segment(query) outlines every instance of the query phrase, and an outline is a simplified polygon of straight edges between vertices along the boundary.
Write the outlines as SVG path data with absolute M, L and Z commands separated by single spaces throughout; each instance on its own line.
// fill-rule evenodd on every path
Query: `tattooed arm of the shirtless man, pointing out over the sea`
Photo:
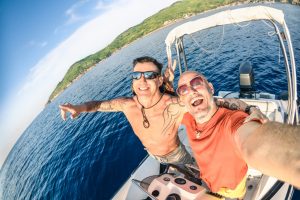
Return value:
M 67 103 L 59 105 L 59 108 L 62 119 L 66 120 L 67 112 L 71 113 L 71 119 L 76 118 L 82 112 L 120 112 L 130 100 L 131 98 L 117 98 L 107 101 L 89 101 L 80 105 Z

